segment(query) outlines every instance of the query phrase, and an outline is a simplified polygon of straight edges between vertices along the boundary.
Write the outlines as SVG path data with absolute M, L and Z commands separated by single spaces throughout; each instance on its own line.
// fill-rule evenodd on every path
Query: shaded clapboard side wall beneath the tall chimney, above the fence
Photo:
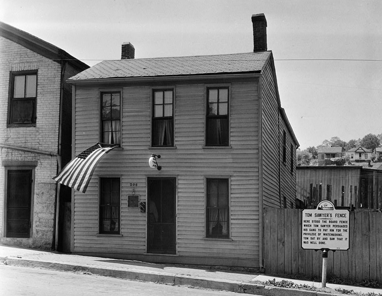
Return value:
M 263 205 L 280 207 L 279 106 L 270 64 L 262 78 Z

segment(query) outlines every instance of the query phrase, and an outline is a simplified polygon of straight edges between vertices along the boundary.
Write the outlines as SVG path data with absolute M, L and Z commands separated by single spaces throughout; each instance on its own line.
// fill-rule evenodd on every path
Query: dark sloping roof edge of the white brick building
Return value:
M 0 36 L 20 44 L 21 46 L 24 46 L 25 48 L 30 49 L 38 54 L 41 54 L 46 58 L 52 59 L 57 63 L 61 63 L 62 60 L 65 60 L 80 70 L 89 68 L 88 65 L 81 62 L 80 60 L 77 60 L 65 50 L 2 22 L 0 22 Z

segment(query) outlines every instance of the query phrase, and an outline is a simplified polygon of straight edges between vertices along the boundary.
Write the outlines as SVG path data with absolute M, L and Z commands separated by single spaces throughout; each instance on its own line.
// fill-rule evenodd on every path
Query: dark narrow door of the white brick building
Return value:
M 32 170 L 8 170 L 6 237 L 30 236 Z

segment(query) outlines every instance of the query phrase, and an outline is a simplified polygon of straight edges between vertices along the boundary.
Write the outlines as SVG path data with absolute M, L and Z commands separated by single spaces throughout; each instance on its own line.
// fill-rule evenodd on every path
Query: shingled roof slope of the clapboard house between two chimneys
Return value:
M 271 51 L 107 60 L 76 74 L 68 81 L 89 81 L 111 78 L 143 78 L 208 74 L 261 73 Z

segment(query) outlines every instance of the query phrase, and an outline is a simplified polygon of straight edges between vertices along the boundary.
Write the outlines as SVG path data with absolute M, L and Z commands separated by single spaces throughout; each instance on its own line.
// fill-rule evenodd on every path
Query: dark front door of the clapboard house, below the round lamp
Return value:
M 147 252 L 175 254 L 175 178 L 148 178 Z

